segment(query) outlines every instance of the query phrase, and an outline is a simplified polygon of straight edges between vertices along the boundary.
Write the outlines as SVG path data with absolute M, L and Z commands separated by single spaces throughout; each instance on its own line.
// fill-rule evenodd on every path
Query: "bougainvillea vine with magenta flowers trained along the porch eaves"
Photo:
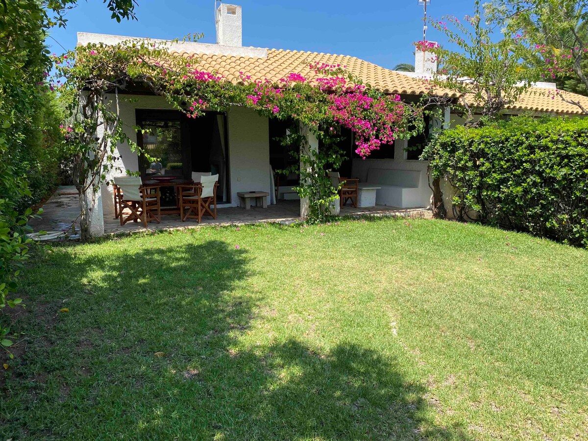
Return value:
M 254 81 L 241 74 L 240 83 L 234 84 L 215 72 L 199 70 L 198 59 L 173 56 L 165 44 L 153 44 L 149 40 L 131 40 L 112 46 L 89 44 L 56 57 L 55 65 L 56 77 L 65 78 L 65 83 L 55 82 L 53 86 L 69 102 L 71 117 L 64 126 L 64 136 L 66 148 L 75 158 L 75 182 L 82 204 L 82 237 L 89 235 L 93 193 L 112 167 L 116 144 L 125 142 L 138 151 L 135 142 L 122 131 L 122 121 L 115 111 L 120 99 L 116 92 L 136 83 L 146 85 L 191 118 L 205 110 L 226 111 L 232 105 L 246 106 L 259 115 L 289 119 L 298 128 L 306 126 L 327 146 L 334 144 L 332 141 L 340 128 L 348 128 L 355 133 L 356 152 L 363 158 L 380 145 L 410 136 L 423 126 L 420 109 L 400 102 L 399 96 L 390 97 L 362 85 L 341 65 L 310 64 L 316 78 L 290 72 L 278 82 Z M 105 130 L 96 141 L 98 127 Z M 325 189 L 320 182 L 323 177 L 326 179 L 329 167 L 340 162 L 342 153 L 336 150 L 323 153 L 329 161 L 321 160 L 322 177 L 318 177 L 319 167 L 312 163 L 315 156 L 312 154 L 305 158 L 308 167 L 300 171 L 300 195 L 311 199 L 316 196 L 316 201 L 322 201 L 319 203 L 322 208 L 311 211 L 311 216 L 322 217 L 325 207 L 337 197 L 337 189 L 330 185 Z M 307 173 L 308 169 L 313 172 Z M 318 193 L 305 190 L 308 186 L 318 186 Z

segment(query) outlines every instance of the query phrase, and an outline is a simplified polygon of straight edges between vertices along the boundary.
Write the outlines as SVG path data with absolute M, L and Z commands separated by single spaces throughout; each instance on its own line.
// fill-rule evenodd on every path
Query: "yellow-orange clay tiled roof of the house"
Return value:
M 219 54 L 194 54 L 191 52 L 173 51 L 172 54 L 188 58 L 197 56 L 199 69 L 225 76 L 231 82 L 239 82 L 239 72 L 250 75 L 252 79 L 269 79 L 279 81 L 290 72 L 296 72 L 312 79 L 318 75 L 309 68 L 315 62 L 326 64 L 340 64 L 346 66 L 350 74 L 358 76 L 364 83 L 380 89 L 385 93 L 400 93 L 406 95 L 420 95 L 425 93 L 425 83 L 422 79 L 412 78 L 400 72 L 391 71 L 376 64 L 364 61 L 354 56 L 317 54 L 316 52 L 285 51 L 282 49 L 268 49 L 267 57 L 236 56 Z M 448 91 L 445 91 L 448 92 Z M 563 101 L 553 93 L 553 89 L 530 88 L 523 93 L 519 101 L 510 106 L 517 111 L 539 111 L 550 113 L 582 113 L 578 106 Z M 570 92 L 562 92 L 568 98 L 579 101 L 588 108 L 588 97 Z M 447 93 L 457 96 L 455 92 Z

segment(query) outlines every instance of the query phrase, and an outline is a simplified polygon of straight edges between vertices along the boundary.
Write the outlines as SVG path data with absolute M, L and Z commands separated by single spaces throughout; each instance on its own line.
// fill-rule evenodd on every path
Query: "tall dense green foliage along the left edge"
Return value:
M 103 0 L 113 18 L 133 19 L 133 0 Z M 65 26 L 77 0 L 0 0 L 0 311 L 14 307 L 19 266 L 32 240 L 29 205 L 51 189 L 61 118 L 45 81 L 51 58 L 44 41 L 52 26 Z M 33 190 L 33 191 L 31 191 Z M 0 347 L 12 344 L 0 316 Z

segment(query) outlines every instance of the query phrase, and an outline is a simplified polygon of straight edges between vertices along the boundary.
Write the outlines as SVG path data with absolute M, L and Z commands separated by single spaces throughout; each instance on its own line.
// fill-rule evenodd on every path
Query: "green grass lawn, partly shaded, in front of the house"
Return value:
M 0 439 L 588 439 L 587 268 L 435 220 L 57 247 Z

